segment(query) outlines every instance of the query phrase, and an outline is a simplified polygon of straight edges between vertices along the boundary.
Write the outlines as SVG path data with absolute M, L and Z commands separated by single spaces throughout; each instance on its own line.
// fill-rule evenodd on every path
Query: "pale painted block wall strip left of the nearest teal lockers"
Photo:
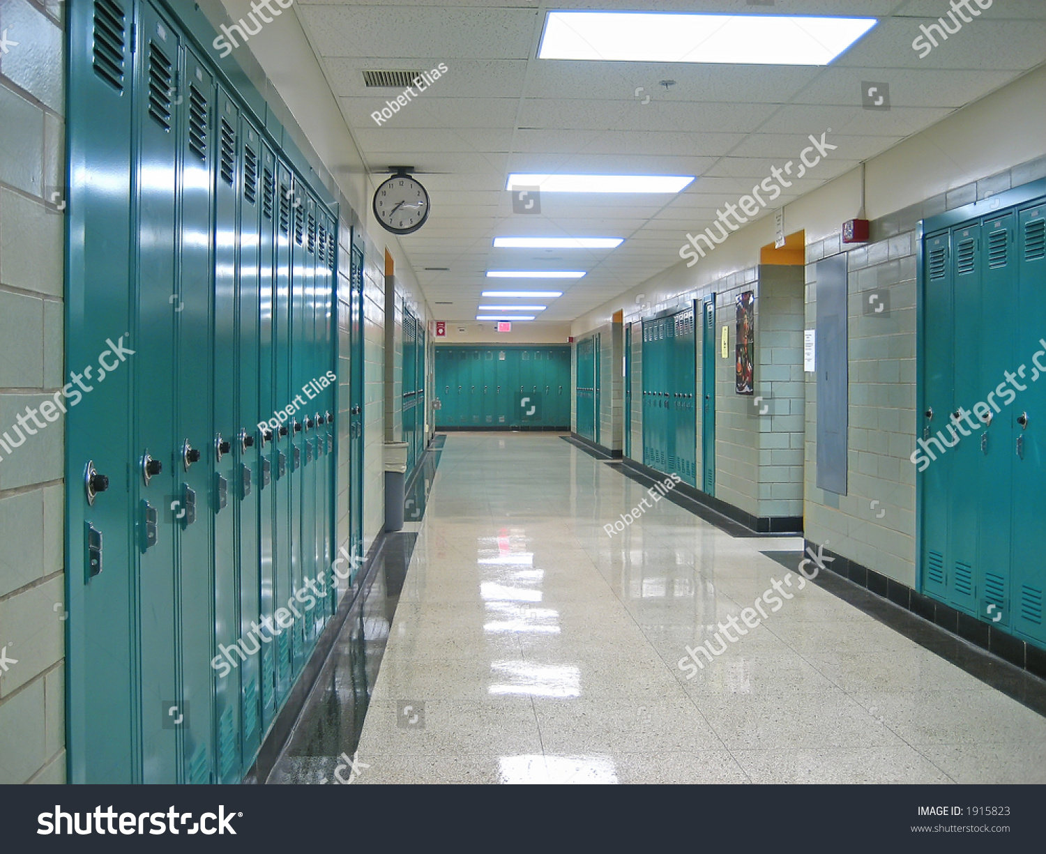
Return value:
M 65 383 L 58 2 L 0 0 L 0 433 Z M 31 423 L 31 422 L 30 422 Z M 64 421 L 0 448 L 0 783 L 65 782 Z

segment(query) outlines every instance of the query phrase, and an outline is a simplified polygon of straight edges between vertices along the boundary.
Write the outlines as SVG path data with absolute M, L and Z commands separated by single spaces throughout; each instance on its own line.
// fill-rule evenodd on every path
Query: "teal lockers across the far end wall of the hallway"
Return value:
M 436 347 L 437 430 L 570 429 L 570 346 Z

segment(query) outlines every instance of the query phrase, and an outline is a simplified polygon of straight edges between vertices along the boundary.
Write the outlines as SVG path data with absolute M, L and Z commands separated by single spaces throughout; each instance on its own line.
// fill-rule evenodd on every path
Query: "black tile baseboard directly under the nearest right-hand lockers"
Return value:
M 824 561 L 824 569 L 828 572 L 847 579 L 859 587 L 870 591 L 880 599 L 885 599 L 897 607 L 933 623 L 967 644 L 990 652 L 1033 676 L 1046 679 L 1046 650 L 1040 649 L 1015 634 L 1002 631 L 991 623 L 982 622 L 969 614 L 957 610 L 945 602 L 932 599 L 912 590 L 907 584 L 887 578 L 885 575 L 870 570 L 856 560 L 843 557 L 831 549 L 824 549 L 809 539 L 805 539 L 804 543 L 806 548 L 812 549 L 815 554 L 832 558 L 831 562 Z M 1023 699 L 1021 701 L 1024 702 Z M 1036 711 L 1046 714 L 1046 703 L 1042 708 L 1037 708 Z

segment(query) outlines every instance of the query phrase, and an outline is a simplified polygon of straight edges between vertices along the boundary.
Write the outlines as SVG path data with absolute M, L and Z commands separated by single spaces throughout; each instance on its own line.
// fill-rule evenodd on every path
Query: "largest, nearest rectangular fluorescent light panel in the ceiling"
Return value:
M 800 15 L 550 11 L 538 59 L 827 65 L 877 23 Z

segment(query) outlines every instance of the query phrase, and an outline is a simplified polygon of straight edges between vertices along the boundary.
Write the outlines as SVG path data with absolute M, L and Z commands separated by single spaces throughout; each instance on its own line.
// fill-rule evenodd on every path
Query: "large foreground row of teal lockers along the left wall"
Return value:
M 337 212 L 166 6 L 67 14 L 69 779 L 235 783 L 336 602 Z

